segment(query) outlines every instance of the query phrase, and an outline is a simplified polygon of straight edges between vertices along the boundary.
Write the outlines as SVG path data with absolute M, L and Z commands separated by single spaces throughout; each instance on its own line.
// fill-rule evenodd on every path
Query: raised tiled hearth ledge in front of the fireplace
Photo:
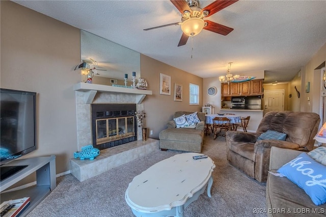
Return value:
M 159 148 L 158 140 L 138 140 L 123 145 L 100 150 L 94 160 L 70 160 L 70 172 L 79 181 L 85 181 L 127 162 L 143 157 Z

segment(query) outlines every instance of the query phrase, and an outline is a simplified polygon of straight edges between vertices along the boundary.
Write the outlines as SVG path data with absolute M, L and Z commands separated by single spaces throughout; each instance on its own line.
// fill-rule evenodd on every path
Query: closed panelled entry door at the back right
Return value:
M 270 111 L 284 111 L 284 90 L 264 91 L 264 114 Z

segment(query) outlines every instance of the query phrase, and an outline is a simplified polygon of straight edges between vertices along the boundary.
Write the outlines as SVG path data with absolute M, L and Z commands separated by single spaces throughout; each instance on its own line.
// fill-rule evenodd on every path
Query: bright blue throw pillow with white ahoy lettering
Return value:
M 326 203 L 326 166 L 302 153 L 277 172 L 304 189 L 317 206 Z

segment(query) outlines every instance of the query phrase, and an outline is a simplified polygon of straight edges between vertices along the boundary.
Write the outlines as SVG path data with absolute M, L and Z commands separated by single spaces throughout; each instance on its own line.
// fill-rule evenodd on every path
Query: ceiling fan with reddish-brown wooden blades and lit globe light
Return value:
M 182 36 L 179 41 L 178 47 L 185 45 L 189 36 L 198 35 L 203 29 L 208 30 L 214 33 L 221 35 L 228 35 L 233 31 L 232 28 L 210 21 L 204 20 L 203 18 L 209 17 L 216 12 L 221 11 L 222 9 L 236 3 L 238 0 L 217 0 L 205 8 L 199 8 L 198 0 L 170 0 L 172 4 L 180 11 L 181 13 L 181 22 L 174 22 L 165 25 L 159 25 L 152 28 L 145 29 L 145 31 L 153 30 L 170 25 L 181 25 Z

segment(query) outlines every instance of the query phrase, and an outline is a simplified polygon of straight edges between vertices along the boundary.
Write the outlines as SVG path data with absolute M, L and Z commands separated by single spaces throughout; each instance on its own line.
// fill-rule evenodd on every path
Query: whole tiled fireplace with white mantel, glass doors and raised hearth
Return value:
M 101 150 L 100 155 L 94 160 L 72 158 L 70 171 L 79 181 L 87 180 L 158 150 L 158 140 L 148 138 L 142 141 L 142 130 L 137 126 L 133 115 L 133 111 L 144 110 L 143 100 L 147 95 L 152 95 L 152 91 L 87 83 L 75 84 L 73 89 L 76 91 L 78 151 L 89 144 L 95 147 L 92 125 L 98 132 L 95 138 L 99 146 L 121 143 Z M 93 121 L 92 111 L 96 111 L 97 116 Z M 129 142 L 123 144 L 125 140 Z

